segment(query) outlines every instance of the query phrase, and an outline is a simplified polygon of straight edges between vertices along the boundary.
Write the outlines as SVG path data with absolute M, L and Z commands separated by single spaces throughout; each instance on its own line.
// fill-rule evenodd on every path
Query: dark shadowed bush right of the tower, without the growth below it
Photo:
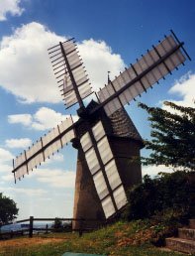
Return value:
M 128 219 L 144 219 L 171 209 L 179 211 L 183 220 L 195 214 L 195 172 L 159 173 L 154 179 L 144 177 L 144 183 L 128 193 Z M 182 212 L 181 212 L 182 211 Z

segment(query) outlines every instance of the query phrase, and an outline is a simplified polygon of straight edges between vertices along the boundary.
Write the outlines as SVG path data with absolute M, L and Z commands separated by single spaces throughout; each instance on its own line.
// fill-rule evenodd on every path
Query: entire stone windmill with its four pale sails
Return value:
M 87 107 L 83 99 L 93 92 L 74 39 L 50 48 L 65 105 L 68 108 L 78 103 L 79 119 L 73 122 L 69 116 L 17 157 L 12 171 L 15 183 L 71 141 L 78 150 L 74 217 L 109 219 L 121 212 L 127 204 L 128 187 L 142 181 L 140 165 L 132 164 L 131 172 L 128 169 L 130 158 L 139 156 L 143 147 L 124 106 L 184 64 L 184 54 L 190 60 L 183 45 L 171 31 L 136 64 L 114 80 L 109 78 L 96 93 L 98 102 L 92 101 Z

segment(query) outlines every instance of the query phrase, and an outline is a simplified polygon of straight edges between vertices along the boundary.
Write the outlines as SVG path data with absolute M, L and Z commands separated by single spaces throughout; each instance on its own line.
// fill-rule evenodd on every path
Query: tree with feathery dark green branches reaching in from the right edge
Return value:
M 172 113 L 159 107 L 148 107 L 140 103 L 149 114 L 152 128 L 151 140 L 145 141 L 146 149 L 152 150 L 144 165 L 165 165 L 195 170 L 195 108 L 164 102 Z

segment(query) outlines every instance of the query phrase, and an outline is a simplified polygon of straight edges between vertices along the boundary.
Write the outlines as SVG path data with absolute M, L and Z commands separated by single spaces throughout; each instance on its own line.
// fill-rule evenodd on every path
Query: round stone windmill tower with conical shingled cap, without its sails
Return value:
M 93 109 L 97 105 L 95 101 L 91 101 L 87 108 Z M 140 156 L 140 150 L 144 147 L 142 137 L 124 108 L 119 109 L 110 117 L 101 108 L 95 118 L 91 119 L 91 125 L 99 120 L 109 138 L 124 190 L 128 191 L 133 185 L 142 183 L 141 165 L 131 163 L 132 157 Z M 85 132 L 84 127 L 79 127 L 76 130 L 77 139 L 73 142 L 73 147 L 78 150 L 73 218 L 105 220 L 104 211 L 78 139 Z M 74 228 L 79 228 L 79 224 L 74 221 Z M 85 221 L 84 226 L 91 227 L 96 224 L 98 222 Z

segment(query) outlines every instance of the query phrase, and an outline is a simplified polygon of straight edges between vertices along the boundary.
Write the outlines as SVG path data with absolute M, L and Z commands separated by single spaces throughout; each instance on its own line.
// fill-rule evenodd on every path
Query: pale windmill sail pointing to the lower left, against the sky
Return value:
M 62 121 L 57 127 L 51 130 L 45 137 L 41 138 L 29 150 L 22 153 L 13 161 L 14 170 L 12 171 L 16 180 L 24 177 L 33 168 L 45 162 L 49 156 L 55 151 L 66 145 L 75 137 L 74 129 L 72 128 L 72 117 L 68 117 Z

